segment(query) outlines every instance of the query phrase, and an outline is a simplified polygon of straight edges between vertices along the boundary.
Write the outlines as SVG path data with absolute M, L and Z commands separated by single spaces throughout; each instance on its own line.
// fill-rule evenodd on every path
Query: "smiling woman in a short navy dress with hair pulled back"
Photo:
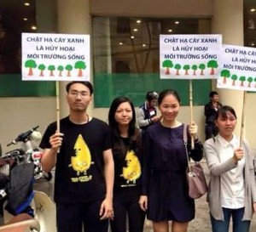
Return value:
M 160 123 L 148 127 L 143 134 L 143 193 L 140 206 L 153 221 L 154 232 L 186 232 L 195 218 L 195 201 L 189 197 L 186 178 L 188 161 L 183 141 L 184 124 L 177 121 L 180 99 L 175 90 L 166 89 L 158 99 L 162 116 Z M 195 139 L 195 149 L 188 146 L 190 157 L 201 161 L 202 145 L 197 126 L 191 122 L 189 141 Z

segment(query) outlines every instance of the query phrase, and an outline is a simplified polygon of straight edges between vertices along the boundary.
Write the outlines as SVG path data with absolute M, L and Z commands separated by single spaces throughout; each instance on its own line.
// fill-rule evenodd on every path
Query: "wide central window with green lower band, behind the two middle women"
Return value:
M 189 81 L 160 80 L 160 34 L 210 33 L 209 19 L 93 17 L 95 107 L 126 95 L 141 105 L 145 94 L 174 88 L 189 105 Z M 193 81 L 194 105 L 205 105 L 211 80 Z M 205 96 L 202 97 L 202 96 Z

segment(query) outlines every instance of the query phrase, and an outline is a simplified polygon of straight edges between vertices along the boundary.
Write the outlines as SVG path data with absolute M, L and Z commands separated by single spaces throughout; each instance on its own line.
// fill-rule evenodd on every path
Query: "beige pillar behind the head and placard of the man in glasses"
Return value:
M 90 34 L 90 0 L 57 0 L 57 8 L 59 33 Z M 90 70 L 92 71 L 92 69 Z M 66 101 L 66 84 L 67 82 L 60 82 L 61 117 L 67 116 L 69 114 Z M 88 113 L 90 115 L 91 111 L 92 105 L 90 105 L 88 108 Z

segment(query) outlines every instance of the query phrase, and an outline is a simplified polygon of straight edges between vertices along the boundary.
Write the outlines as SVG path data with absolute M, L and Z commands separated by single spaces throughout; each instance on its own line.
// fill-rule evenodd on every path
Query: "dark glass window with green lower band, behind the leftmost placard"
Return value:
M 47 4 L 55 10 L 54 3 L 51 0 L 0 1 L 0 97 L 55 95 L 55 82 L 22 82 L 20 73 L 21 33 L 53 31 L 45 22 L 55 17 L 50 10 L 46 12 Z

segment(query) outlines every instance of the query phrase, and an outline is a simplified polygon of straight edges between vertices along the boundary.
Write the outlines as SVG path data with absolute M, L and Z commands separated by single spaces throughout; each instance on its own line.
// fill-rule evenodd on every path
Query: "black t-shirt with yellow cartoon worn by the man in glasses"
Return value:
M 55 202 L 72 203 L 97 201 L 105 198 L 102 152 L 111 148 L 108 124 L 92 118 L 83 125 L 68 117 L 61 119 L 64 133 L 55 166 Z M 49 137 L 56 131 L 56 122 L 49 125 L 40 147 L 50 148 Z

